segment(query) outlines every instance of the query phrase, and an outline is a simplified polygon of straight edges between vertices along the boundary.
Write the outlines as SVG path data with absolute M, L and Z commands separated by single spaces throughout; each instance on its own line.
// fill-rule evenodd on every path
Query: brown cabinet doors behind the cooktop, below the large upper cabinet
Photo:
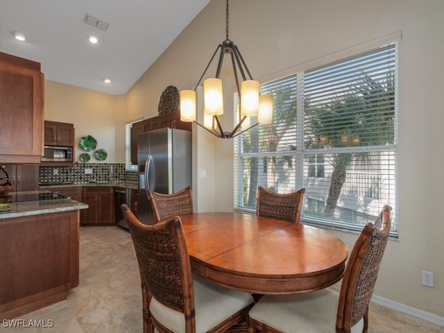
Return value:
M 35 191 L 39 189 L 39 164 L 0 164 L 9 176 L 12 192 Z M 0 175 L 3 177 L 3 173 Z M 4 180 L 0 180 L 3 184 Z

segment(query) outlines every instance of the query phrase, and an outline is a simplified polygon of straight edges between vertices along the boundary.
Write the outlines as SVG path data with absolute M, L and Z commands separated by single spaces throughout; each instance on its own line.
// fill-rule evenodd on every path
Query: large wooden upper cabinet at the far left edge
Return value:
M 0 52 L 1 162 L 40 162 L 43 89 L 40 63 Z

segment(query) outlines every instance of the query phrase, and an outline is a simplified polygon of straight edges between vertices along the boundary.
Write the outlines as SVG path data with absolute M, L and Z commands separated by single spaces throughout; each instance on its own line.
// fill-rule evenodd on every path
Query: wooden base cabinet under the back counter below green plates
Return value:
M 114 223 L 114 188 L 83 187 L 82 202 L 89 208 L 82 211 L 82 224 Z

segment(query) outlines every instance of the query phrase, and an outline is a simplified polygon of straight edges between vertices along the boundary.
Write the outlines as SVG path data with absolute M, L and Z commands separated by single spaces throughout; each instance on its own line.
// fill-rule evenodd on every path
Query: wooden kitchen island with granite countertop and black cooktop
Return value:
M 0 319 L 67 298 L 79 282 L 84 203 L 50 191 L 0 196 Z

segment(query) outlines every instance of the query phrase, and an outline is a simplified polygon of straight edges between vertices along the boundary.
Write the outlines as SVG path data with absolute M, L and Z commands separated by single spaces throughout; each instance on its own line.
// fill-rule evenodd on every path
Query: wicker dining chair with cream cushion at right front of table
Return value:
M 390 232 L 391 207 L 364 226 L 348 258 L 341 291 L 264 296 L 248 314 L 253 332 L 367 332 L 368 306 Z M 336 320 L 336 330 L 335 323 Z

